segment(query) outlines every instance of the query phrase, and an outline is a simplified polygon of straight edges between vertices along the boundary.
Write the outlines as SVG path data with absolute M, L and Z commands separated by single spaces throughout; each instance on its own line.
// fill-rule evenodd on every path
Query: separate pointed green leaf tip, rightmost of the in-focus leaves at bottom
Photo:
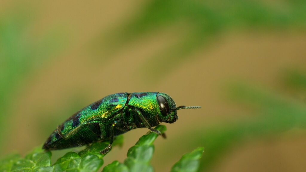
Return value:
M 171 172 L 196 172 L 199 170 L 200 159 L 202 157 L 204 148 L 197 148 L 191 153 L 187 153 L 174 164 Z

